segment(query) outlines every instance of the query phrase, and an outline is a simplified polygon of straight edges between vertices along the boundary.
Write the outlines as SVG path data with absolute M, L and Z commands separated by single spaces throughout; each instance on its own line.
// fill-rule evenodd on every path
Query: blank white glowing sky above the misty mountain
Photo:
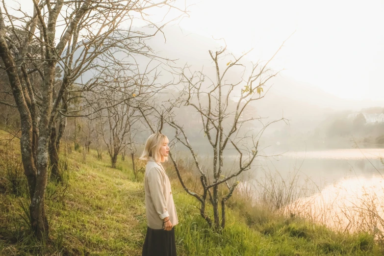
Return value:
M 348 99 L 384 99 L 383 0 L 199 0 L 180 26 L 224 37 L 233 51 L 255 48 L 285 76 Z

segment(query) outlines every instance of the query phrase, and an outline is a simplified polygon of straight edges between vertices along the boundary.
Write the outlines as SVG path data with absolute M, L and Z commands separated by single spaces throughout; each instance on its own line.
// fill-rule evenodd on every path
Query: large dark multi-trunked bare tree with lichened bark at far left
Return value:
M 15 102 L 12 105 L 20 114 L 20 145 L 31 199 L 31 227 L 36 236 L 42 238 L 49 230 L 44 206 L 49 154 L 54 152 L 53 143 L 56 151 L 59 149 L 65 117 L 79 114 L 78 109 L 69 112 L 66 106 L 77 97 L 84 97 L 82 92 L 92 91 L 97 84 L 97 77 L 83 82 L 82 75 L 107 69 L 107 66 L 101 67 L 100 59 L 104 60 L 102 64 L 107 63 L 106 59 L 109 63 L 121 63 L 114 57 L 117 51 L 151 57 L 144 39 L 161 31 L 164 23 L 161 26 L 151 23 L 146 11 L 175 8 L 175 0 L 111 0 L 105 3 L 99 0 L 32 0 L 32 16 L 21 8 L 11 14 L 6 1 L 2 3 L 0 55 L 4 66 L 1 68 L 6 71 L 12 88 Z M 137 17 L 154 29 L 150 29 L 150 33 L 130 29 Z M 17 30 L 22 30 L 23 36 L 19 36 Z M 64 75 L 61 84 L 55 87 L 57 65 Z M 53 128 L 58 116 L 62 131 L 59 128 L 55 139 Z

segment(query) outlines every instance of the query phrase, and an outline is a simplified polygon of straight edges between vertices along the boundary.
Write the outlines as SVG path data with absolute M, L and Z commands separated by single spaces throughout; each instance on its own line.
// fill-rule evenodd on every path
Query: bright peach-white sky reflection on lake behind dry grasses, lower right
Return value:
M 340 231 L 373 232 L 383 238 L 384 179 L 347 177 L 283 209 Z

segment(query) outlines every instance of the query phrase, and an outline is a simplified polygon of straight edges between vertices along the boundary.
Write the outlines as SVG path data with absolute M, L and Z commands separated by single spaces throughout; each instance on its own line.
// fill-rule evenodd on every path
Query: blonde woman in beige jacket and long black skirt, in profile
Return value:
M 171 183 L 162 162 L 168 160 L 167 136 L 152 134 L 140 159 L 147 160 L 144 177 L 147 234 L 142 256 L 176 256 L 175 230 L 179 223 Z

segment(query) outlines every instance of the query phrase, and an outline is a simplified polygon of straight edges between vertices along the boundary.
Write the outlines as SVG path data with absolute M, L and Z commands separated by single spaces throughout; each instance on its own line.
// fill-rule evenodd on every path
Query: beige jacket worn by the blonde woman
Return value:
M 163 219 L 169 217 L 173 226 L 179 223 L 173 202 L 171 183 L 163 167 L 153 158 L 147 162 L 144 176 L 147 225 L 151 229 L 163 229 Z

